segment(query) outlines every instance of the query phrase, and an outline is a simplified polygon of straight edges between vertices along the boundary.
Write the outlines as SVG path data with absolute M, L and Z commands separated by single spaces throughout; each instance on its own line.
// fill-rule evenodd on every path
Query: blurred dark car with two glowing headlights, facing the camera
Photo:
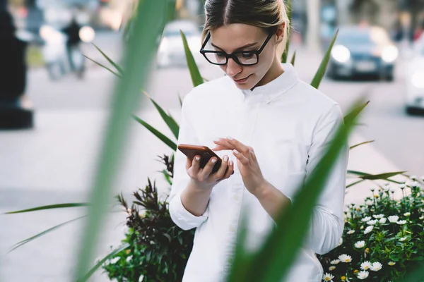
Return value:
M 397 47 L 382 27 L 341 27 L 331 50 L 327 73 L 331 78 L 366 75 L 393 80 L 398 56 Z

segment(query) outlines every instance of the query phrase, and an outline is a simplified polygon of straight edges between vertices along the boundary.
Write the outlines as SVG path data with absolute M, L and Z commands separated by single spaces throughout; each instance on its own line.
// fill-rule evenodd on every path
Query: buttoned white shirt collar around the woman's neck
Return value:
M 298 74 L 291 63 L 281 63 L 284 73 L 279 75 L 276 79 L 254 87 L 253 90 L 242 90 L 243 99 L 248 99 L 251 102 L 266 102 L 269 104 L 273 99 L 276 99 L 281 94 L 290 90 L 296 83 L 298 83 Z

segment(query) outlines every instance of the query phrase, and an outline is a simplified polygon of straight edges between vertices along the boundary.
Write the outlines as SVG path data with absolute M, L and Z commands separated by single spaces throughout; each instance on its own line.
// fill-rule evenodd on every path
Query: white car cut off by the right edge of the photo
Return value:
M 416 43 L 406 65 L 406 112 L 424 111 L 424 36 Z

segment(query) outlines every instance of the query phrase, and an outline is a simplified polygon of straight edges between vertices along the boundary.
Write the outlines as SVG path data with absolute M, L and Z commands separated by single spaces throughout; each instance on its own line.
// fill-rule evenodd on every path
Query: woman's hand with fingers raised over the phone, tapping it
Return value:
M 266 186 L 266 180 L 262 176 L 257 157 L 252 147 L 242 144 L 242 142 L 228 138 L 219 138 L 213 141 L 216 147 L 214 151 L 232 150 L 232 154 L 237 158 L 237 166 L 247 190 L 253 195 L 257 195 Z

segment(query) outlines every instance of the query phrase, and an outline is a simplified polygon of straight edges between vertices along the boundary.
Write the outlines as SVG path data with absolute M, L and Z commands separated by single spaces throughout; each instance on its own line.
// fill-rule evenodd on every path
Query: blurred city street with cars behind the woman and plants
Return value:
M 110 67 L 93 44 L 119 63 L 136 2 L 0 0 L 0 213 L 87 199 L 116 81 L 98 65 Z M 355 149 L 349 168 L 424 175 L 424 0 L 292 2 L 289 59 L 296 51 L 300 78 L 312 80 L 339 30 L 320 90 L 343 111 L 361 95 L 371 101 L 351 142 L 375 142 Z M 179 121 L 178 95 L 192 89 L 179 30 L 204 78 L 223 73 L 199 54 L 203 2 L 178 0 L 176 8 L 177 20 L 159 38 L 145 89 Z M 136 114 L 171 136 L 148 99 Z M 163 154 L 170 149 L 134 122 L 115 194 L 123 192 L 131 200 L 131 192 L 146 185 L 148 177 L 166 193 L 157 161 Z M 351 192 L 348 201 L 360 194 Z M 99 255 L 122 239 L 125 214 L 114 210 Z M 0 281 L 70 281 L 78 222 L 7 250 L 82 214 L 81 209 L 62 209 L 0 215 Z M 107 279 L 99 273 L 93 281 Z

